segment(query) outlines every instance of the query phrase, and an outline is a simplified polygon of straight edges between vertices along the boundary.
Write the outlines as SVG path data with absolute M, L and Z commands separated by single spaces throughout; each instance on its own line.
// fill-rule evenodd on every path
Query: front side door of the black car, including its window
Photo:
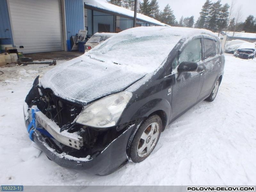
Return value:
M 172 119 L 194 105 L 203 84 L 204 64 L 202 62 L 201 38 L 189 42 L 179 56 L 172 62 L 173 72 L 182 61 L 195 61 L 198 70 L 193 72 L 176 72 L 176 81 L 172 87 Z

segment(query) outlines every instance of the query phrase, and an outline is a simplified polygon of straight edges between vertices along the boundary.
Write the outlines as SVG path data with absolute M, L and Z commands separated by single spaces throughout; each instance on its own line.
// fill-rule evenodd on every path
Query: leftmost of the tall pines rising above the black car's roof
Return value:
M 206 28 L 207 27 L 211 7 L 212 7 L 211 0 L 206 0 L 202 7 L 201 12 L 200 12 L 200 19 L 198 21 L 197 28 Z

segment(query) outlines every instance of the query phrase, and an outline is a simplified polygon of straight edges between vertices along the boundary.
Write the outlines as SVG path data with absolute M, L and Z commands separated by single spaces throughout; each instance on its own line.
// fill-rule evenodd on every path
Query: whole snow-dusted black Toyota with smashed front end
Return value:
M 173 120 L 213 101 L 224 63 L 211 31 L 127 29 L 35 79 L 29 137 L 61 166 L 108 175 L 146 159 Z

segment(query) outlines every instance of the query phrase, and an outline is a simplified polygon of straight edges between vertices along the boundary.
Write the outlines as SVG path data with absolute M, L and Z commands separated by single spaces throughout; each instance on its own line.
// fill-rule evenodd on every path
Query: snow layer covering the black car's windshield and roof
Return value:
M 183 39 L 196 35 L 215 36 L 211 31 L 183 27 L 137 27 L 124 30 L 85 53 L 104 62 L 125 65 L 135 73 L 151 73 Z

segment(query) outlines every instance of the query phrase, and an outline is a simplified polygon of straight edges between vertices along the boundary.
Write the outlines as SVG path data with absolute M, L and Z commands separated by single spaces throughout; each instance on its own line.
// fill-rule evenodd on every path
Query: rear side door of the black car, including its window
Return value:
M 204 37 L 204 81 L 202 90 L 200 93 L 200 99 L 208 96 L 211 91 L 213 84 L 215 83 L 218 73 L 220 71 L 221 58 L 220 49 L 218 49 L 218 43 L 214 38 Z

